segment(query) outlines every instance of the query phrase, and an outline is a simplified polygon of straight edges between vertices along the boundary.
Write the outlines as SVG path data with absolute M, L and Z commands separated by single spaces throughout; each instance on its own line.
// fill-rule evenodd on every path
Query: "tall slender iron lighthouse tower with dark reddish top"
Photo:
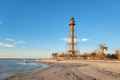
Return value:
M 69 22 L 69 36 L 68 36 L 68 54 L 72 57 L 76 56 L 76 44 L 77 39 L 75 35 L 75 20 L 74 17 L 71 17 Z

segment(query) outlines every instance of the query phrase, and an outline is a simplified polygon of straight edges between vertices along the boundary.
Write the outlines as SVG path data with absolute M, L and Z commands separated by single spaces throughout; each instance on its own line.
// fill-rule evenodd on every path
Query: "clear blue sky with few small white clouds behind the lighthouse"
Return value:
M 0 0 L 0 57 L 48 57 L 67 49 L 69 20 L 77 48 L 120 48 L 120 0 Z

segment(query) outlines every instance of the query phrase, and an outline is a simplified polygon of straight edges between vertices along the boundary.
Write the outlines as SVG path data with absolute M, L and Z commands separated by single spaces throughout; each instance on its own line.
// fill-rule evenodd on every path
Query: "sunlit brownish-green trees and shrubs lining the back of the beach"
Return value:
M 86 60 L 120 60 L 120 50 L 116 50 L 114 53 L 107 53 L 108 47 L 106 44 L 100 44 L 99 48 L 93 52 L 86 52 L 84 54 L 71 55 L 69 53 L 53 53 L 54 59 L 86 59 Z

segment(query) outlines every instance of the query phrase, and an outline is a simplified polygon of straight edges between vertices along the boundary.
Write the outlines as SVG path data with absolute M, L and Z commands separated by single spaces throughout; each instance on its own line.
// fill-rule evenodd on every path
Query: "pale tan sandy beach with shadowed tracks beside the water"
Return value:
M 43 60 L 48 68 L 8 80 L 120 80 L 119 61 Z

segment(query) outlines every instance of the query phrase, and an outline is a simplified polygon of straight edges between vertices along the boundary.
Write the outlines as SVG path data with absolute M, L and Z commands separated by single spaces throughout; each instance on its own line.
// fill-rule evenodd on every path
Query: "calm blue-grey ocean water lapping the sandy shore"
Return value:
M 38 64 L 30 59 L 0 59 L 0 80 L 5 80 L 15 73 L 31 72 L 37 68 L 42 69 L 45 67 L 47 65 Z

